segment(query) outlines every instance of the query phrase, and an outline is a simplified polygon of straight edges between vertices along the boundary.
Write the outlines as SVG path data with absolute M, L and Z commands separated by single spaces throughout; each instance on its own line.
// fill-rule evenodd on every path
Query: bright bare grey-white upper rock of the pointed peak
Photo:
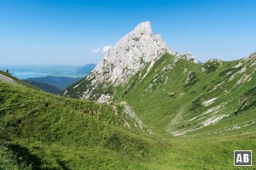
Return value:
M 160 35 L 153 34 L 150 22 L 143 22 L 110 48 L 92 72 L 97 75 L 96 81 L 116 86 L 165 53 L 173 54 Z

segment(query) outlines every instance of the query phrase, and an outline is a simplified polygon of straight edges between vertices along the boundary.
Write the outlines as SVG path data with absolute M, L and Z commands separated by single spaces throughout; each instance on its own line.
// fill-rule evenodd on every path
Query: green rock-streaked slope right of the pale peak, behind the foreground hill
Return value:
M 219 128 L 224 131 L 236 125 L 240 127 L 236 131 L 240 132 L 243 126 L 256 122 L 255 99 L 251 93 L 256 84 L 255 67 L 244 60 L 212 59 L 195 64 L 165 54 L 142 80 L 146 69 L 117 88 L 115 102 L 126 100 L 157 133 L 205 133 L 206 130 L 214 133 L 220 132 Z M 246 100 L 250 112 L 246 118 L 240 118 L 245 114 L 241 99 Z M 217 122 L 218 118 L 222 119 Z

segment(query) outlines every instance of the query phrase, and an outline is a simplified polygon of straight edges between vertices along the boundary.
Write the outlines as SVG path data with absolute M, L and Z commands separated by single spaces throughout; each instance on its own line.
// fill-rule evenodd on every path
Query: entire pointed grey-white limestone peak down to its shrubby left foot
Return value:
M 166 45 L 159 34 L 154 35 L 150 22 L 142 22 L 122 37 L 104 55 L 96 68 L 82 82 L 69 88 L 63 95 L 92 99 L 98 103 L 111 103 L 114 88 L 128 82 L 131 76 L 148 66 L 148 74 L 155 61 L 163 54 L 197 62 L 192 54 L 178 54 Z

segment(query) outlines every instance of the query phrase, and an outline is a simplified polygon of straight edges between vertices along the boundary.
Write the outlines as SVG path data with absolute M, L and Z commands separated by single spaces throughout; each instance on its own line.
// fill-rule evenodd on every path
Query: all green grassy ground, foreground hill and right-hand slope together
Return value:
M 233 150 L 256 152 L 254 59 L 198 65 L 165 54 L 116 88 L 113 105 L 0 82 L 3 155 L 32 169 L 235 169 Z M 125 119 L 122 101 L 154 137 Z

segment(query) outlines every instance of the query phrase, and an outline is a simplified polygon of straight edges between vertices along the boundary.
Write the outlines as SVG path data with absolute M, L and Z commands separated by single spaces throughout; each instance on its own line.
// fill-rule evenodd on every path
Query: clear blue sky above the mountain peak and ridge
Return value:
M 97 63 L 145 20 L 201 61 L 256 51 L 254 0 L 1 0 L 0 65 Z

